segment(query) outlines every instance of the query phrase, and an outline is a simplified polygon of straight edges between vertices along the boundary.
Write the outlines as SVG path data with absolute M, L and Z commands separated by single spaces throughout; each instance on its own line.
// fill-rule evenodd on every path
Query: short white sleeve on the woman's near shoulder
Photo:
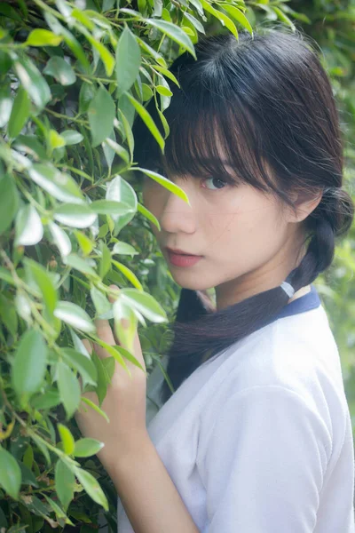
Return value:
M 317 412 L 286 387 L 253 386 L 215 418 L 204 421 L 197 459 L 204 533 L 312 533 L 332 446 Z

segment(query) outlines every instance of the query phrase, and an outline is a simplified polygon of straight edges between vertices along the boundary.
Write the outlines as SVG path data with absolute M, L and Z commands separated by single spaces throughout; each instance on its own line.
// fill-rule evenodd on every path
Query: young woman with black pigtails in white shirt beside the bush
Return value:
M 182 287 L 175 392 L 164 383 L 146 424 L 146 376 L 128 362 L 132 378 L 117 367 L 103 404 L 110 424 L 77 420 L 105 442 L 119 533 L 353 533 L 351 418 L 312 284 L 353 219 L 331 85 L 299 31 L 205 37 L 196 52 L 170 68 L 180 86 L 170 83 L 164 155 L 135 123 L 135 161 L 190 200 L 144 179 Z M 120 341 L 107 322 L 98 329 Z M 138 335 L 135 355 L 144 365 Z

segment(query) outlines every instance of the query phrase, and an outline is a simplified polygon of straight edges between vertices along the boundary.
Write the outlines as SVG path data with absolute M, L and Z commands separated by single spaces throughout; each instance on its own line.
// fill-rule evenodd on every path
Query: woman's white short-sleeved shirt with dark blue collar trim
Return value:
M 202 363 L 156 414 L 147 403 L 148 434 L 202 533 L 355 532 L 350 412 L 311 288 Z M 158 371 L 148 396 L 159 403 Z M 131 533 L 118 504 L 118 531 Z

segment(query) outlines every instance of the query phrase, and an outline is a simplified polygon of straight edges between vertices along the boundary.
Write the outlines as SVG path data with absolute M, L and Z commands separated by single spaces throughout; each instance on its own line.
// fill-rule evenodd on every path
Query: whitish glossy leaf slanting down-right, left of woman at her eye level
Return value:
M 60 202 L 84 202 L 82 191 L 75 179 L 66 172 L 60 172 L 50 163 L 34 163 L 28 169 L 28 176 Z

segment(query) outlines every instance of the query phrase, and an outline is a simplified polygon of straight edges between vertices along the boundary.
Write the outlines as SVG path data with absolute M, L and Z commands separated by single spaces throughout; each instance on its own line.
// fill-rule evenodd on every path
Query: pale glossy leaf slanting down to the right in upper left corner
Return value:
M 23 87 L 39 109 L 51 99 L 51 90 L 35 64 L 23 56 L 14 61 L 14 68 Z

